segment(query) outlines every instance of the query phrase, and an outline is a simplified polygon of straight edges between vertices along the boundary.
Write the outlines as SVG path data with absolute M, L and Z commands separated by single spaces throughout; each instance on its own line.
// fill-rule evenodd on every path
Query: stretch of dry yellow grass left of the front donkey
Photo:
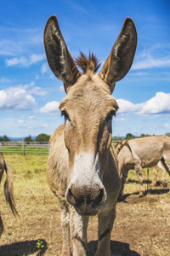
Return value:
M 58 239 L 53 235 L 55 232 L 60 234 L 61 230 L 57 201 L 46 182 L 48 156 L 5 155 L 4 157 L 13 169 L 14 199 L 20 216 L 15 218 L 7 207 L 3 186 L 1 186 L 1 212 L 5 227 L 1 245 L 8 244 L 12 249 L 11 247 L 0 247 L 0 255 L 3 255 L 4 250 L 7 250 L 4 253 L 5 256 L 36 253 L 39 250 L 36 247 L 39 237 L 43 240 L 43 248 L 46 249 L 48 246 L 47 255 L 53 255 L 50 253 L 52 244 L 55 241 L 61 244 L 60 236 Z M 16 250 L 15 254 L 13 247 Z M 61 245 L 59 251 L 60 249 Z M 60 255 L 60 253 L 55 255 Z

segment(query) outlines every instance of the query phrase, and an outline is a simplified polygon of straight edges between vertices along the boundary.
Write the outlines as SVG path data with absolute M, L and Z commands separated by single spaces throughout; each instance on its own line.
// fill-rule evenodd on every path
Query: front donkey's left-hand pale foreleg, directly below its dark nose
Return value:
M 71 238 L 73 256 L 86 256 L 88 216 L 81 216 L 71 207 Z

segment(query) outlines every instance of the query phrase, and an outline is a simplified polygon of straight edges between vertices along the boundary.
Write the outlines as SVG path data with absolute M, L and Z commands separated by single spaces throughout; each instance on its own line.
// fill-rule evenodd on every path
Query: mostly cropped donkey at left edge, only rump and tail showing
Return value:
M 6 181 L 4 183 L 4 194 L 5 199 L 8 202 L 9 207 L 11 208 L 14 215 L 18 214 L 15 204 L 14 204 L 14 197 L 13 197 L 13 174 L 10 166 L 8 166 L 7 162 L 3 158 L 3 153 L 0 151 L 0 183 L 3 177 L 3 172 L 6 172 Z M 3 234 L 3 220 L 0 215 L 0 237 Z

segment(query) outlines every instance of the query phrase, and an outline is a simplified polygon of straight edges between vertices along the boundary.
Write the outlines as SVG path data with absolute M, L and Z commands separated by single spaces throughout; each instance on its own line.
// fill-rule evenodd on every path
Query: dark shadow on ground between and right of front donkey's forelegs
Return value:
M 88 256 L 94 256 L 98 241 L 88 242 Z M 129 244 L 121 241 L 111 241 L 111 255 L 115 256 L 140 256 L 139 253 L 131 251 Z

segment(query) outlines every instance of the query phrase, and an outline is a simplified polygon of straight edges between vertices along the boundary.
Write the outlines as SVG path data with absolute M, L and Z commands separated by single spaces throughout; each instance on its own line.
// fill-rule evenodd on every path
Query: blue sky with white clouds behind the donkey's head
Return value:
M 58 106 L 65 91 L 48 67 L 42 40 L 50 15 L 57 15 L 73 57 L 90 49 L 103 63 L 131 17 L 138 46 L 112 94 L 120 107 L 113 136 L 170 132 L 169 0 L 1 0 L 0 136 L 51 134 L 64 121 Z

